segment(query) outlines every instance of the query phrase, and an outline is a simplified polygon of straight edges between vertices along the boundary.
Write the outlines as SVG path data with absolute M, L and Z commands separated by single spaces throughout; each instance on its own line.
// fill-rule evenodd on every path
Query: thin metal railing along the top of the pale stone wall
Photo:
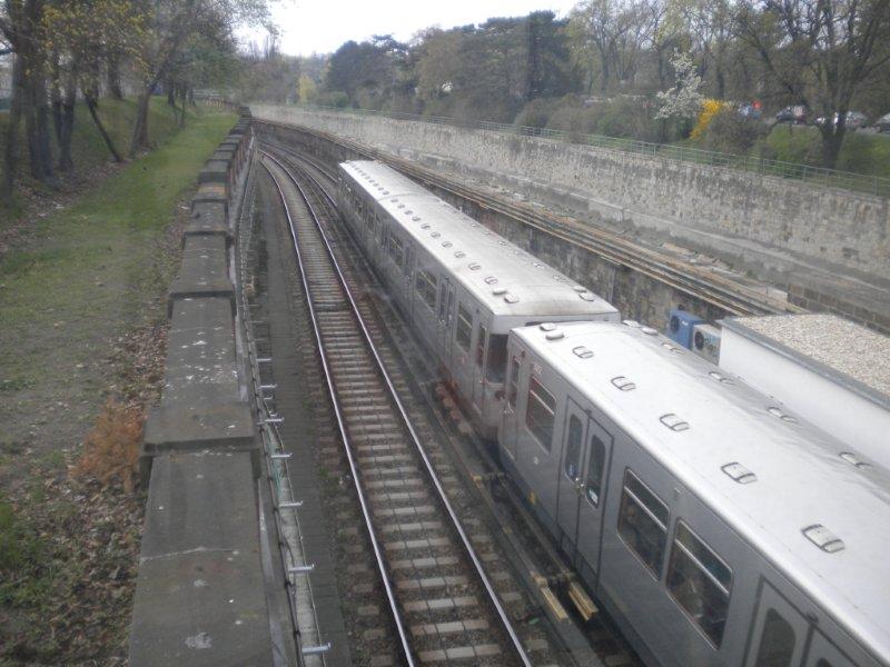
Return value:
M 651 143 L 649 141 L 636 141 L 634 139 L 604 137 L 602 135 L 584 135 L 580 132 L 567 132 L 564 130 L 551 130 L 546 128 L 492 122 L 487 120 L 457 120 L 444 116 L 419 116 L 416 113 L 384 112 L 372 109 L 324 107 L 313 104 L 299 104 L 297 108 L 305 109 L 307 111 L 373 116 L 393 120 L 412 120 L 429 125 L 487 130 L 503 135 L 537 137 L 540 139 L 592 146 L 595 148 L 629 152 L 649 158 L 705 165 L 709 167 L 722 167 L 780 179 L 793 179 L 801 181 L 804 185 L 820 188 L 840 188 L 857 193 L 873 195 L 876 197 L 890 197 L 890 178 L 867 176 L 864 173 L 854 173 L 852 171 L 839 171 L 837 169 L 825 169 L 824 167 L 811 167 L 809 165 L 784 162 L 782 160 L 770 160 L 767 158 L 716 152 L 712 150 L 702 150 L 699 148 L 674 146 L 671 143 Z

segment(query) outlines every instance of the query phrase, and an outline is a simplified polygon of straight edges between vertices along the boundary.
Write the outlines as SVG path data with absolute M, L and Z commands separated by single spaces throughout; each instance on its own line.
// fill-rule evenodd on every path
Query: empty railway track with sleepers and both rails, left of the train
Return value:
M 274 156 L 260 155 L 290 228 L 400 658 L 407 665 L 531 665 L 372 340 L 313 192 Z

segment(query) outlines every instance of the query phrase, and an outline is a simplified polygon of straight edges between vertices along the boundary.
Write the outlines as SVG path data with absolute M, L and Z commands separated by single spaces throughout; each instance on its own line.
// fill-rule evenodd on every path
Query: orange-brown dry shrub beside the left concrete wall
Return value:
M 76 474 L 105 486 L 119 484 L 131 491 L 142 439 L 142 410 L 108 399 L 96 426 L 83 440 Z

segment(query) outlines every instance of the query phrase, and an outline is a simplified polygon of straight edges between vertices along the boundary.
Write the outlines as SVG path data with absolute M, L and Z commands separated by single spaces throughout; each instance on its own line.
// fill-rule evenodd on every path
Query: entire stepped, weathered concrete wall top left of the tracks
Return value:
M 243 111 L 201 170 L 170 287 L 165 387 L 146 421 L 148 488 L 130 665 L 269 665 L 254 414 L 236 348 L 229 201 L 247 162 Z

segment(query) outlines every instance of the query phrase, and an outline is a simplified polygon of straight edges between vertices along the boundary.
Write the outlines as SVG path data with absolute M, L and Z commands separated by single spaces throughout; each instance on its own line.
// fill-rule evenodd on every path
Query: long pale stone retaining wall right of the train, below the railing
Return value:
M 257 118 L 352 137 L 768 271 L 790 271 L 803 260 L 890 281 L 883 197 L 487 130 L 296 107 L 251 109 Z

